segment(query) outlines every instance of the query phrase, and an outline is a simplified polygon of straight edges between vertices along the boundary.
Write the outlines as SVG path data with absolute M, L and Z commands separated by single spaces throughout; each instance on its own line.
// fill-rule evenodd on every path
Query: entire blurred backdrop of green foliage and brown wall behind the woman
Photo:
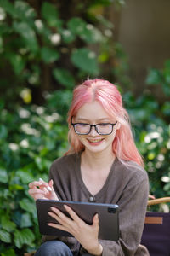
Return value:
M 71 92 L 84 79 L 118 86 L 150 194 L 170 196 L 169 9 L 168 0 L 0 0 L 1 256 L 40 244 L 28 183 L 48 181 L 67 150 Z

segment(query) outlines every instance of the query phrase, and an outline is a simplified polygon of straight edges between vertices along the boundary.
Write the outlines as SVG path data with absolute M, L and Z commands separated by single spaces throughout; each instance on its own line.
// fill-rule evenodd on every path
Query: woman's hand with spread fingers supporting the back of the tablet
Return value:
M 52 212 L 48 214 L 55 218 L 59 224 L 48 223 L 49 226 L 57 228 L 59 230 L 65 230 L 71 233 L 77 241 L 79 241 L 83 248 L 88 253 L 94 255 L 101 255 L 103 247 L 99 244 L 99 216 L 96 214 L 93 218 L 93 224 L 86 224 L 81 218 L 79 218 L 71 207 L 65 205 L 65 210 L 69 212 L 71 218 L 65 216 L 63 212 L 60 212 L 57 208 L 51 207 Z

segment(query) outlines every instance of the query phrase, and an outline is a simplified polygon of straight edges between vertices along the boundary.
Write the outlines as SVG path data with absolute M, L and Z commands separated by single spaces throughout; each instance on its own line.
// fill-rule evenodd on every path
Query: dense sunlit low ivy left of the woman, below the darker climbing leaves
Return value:
M 0 123 L 0 255 L 22 255 L 41 241 L 28 183 L 48 181 L 52 161 L 66 151 L 67 125 L 50 96 L 44 107 L 1 109 Z

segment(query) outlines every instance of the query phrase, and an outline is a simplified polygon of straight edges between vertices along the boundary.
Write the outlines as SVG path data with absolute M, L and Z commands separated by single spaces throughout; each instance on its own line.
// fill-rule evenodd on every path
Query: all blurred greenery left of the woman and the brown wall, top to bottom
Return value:
M 114 59 L 113 25 L 103 15 L 112 2 L 123 3 L 0 0 L 1 256 L 40 243 L 28 183 L 47 181 L 51 162 L 67 148 L 74 85 L 102 76 L 102 65 Z

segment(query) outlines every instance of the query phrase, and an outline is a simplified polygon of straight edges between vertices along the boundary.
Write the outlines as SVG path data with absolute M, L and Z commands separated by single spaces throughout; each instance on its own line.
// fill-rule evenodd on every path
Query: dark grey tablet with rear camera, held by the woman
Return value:
M 57 223 L 54 218 L 48 215 L 50 207 L 57 207 L 66 216 L 70 217 L 69 213 L 65 211 L 64 205 L 67 205 L 87 224 L 92 224 L 94 215 L 99 214 L 99 239 L 112 241 L 119 239 L 119 207 L 117 205 L 45 199 L 37 199 L 36 205 L 39 230 L 42 235 L 72 236 L 66 231 L 48 226 L 49 222 Z

